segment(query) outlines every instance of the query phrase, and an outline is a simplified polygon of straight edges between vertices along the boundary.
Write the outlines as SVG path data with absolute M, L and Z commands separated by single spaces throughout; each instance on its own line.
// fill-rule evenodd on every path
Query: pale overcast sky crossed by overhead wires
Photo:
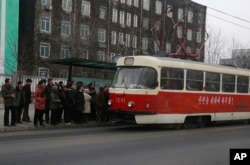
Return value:
M 223 36 L 227 40 L 236 40 L 238 44 L 243 47 L 250 48 L 250 0 L 192 0 L 193 2 L 199 3 L 201 5 L 207 6 L 207 25 L 212 29 L 220 29 L 222 31 Z M 212 9 L 211 9 L 212 8 Z M 222 14 L 217 12 L 224 12 L 226 14 Z M 228 16 L 228 15 L 232 15 Z M 225 19 L 232 23 L 222 21 L 218 18 Z M 240 19 L 236 19 L 234 17 L 238 17 Z M 242 26 L 242 27 L 241 27 Z

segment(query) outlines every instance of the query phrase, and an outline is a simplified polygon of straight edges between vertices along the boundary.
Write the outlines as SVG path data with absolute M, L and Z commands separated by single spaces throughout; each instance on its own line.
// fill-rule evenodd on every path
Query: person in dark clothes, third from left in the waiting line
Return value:
M 31 93 L 31 83 L 32 80 L 31 79 L 27 79 L 26 80 L 26 84 L 23 87 L 24 90 L 24 96 L 25 96 L 25 102 L 24 102 L 24 106 L 23 106 L 23 117 L 22 117 L 22 121 L 24 122 L 31 122 L 30 120 L 30 116 L 29 116 L 29 105 L 32 102 L 32 93 Z

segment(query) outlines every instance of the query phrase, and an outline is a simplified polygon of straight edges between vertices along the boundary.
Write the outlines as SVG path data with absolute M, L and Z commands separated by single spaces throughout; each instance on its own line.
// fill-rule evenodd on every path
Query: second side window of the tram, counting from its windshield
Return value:
M 186 89 L 201 91 L 203 90 L 203 72 L 187 70 Z

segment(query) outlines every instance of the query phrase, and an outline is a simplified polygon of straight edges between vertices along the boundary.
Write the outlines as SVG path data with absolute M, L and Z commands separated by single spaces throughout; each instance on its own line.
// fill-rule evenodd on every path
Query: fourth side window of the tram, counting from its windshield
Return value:
M 235 91 L 235 76 L 229 74 L 222 75 L 222 91 L 234 92 Z

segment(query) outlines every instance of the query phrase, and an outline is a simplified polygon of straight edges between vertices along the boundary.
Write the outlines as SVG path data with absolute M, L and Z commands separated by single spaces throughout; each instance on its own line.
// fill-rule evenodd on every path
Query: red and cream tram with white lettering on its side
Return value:
M 153 56 L 117 61 L 110 110 L 137 124 L 250 119 L 250 71 Z

